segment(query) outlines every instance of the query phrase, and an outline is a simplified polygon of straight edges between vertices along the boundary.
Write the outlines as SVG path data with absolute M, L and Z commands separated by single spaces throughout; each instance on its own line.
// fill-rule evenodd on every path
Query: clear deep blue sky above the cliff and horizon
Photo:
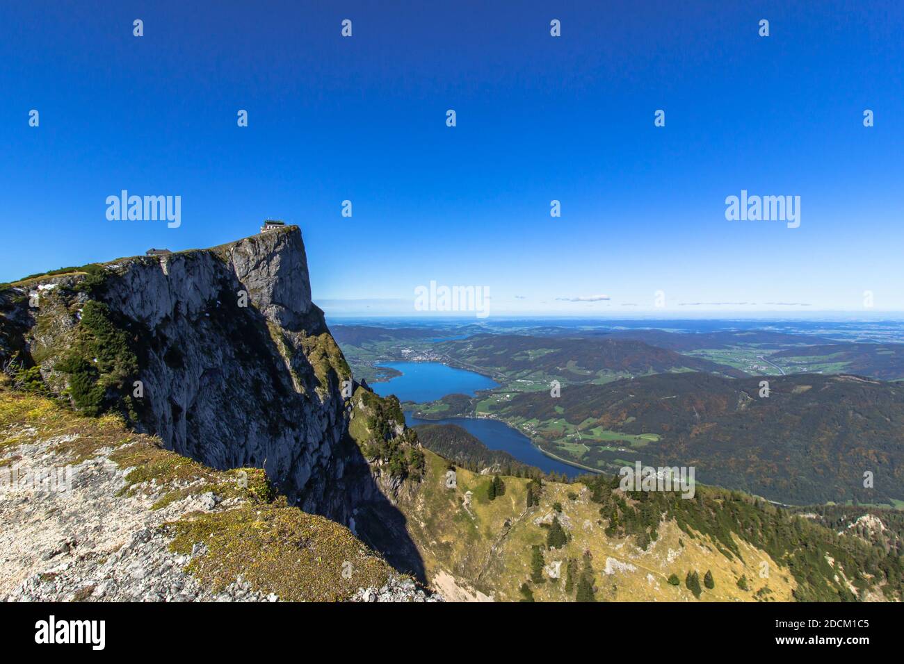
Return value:
M 207 5 L 3 5 L 0 280 L 275 216 L 327 313 L 431 279 L 499 313 L 904 311 L 902 3 Z M 122 189 L 182 226 L 108 221 Z M 725 220 L 742 189 L 800 228 Z

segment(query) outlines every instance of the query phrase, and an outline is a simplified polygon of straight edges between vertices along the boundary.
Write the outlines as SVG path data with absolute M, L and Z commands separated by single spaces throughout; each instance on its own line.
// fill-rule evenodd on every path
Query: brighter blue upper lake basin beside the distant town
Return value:
M 453 369 L 441 362 L 381 362 L 381 367 L 401 371 L 401 376 L 385 383 L 374 383 L 373 391 L 381 397 L 394 394 L 400 401 L 436 401 L 447 394 L 466 394 L 473 397 L 478 389 L 498 387 L 474 371 Z

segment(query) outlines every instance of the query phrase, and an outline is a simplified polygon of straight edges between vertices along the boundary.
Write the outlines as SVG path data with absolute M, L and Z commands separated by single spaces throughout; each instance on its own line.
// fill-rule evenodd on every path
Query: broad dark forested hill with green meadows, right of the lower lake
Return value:
M 553 454 L 609 470 L 641 459 L 793 504 L 904 500 L 904 387 L 854 376 L 660 374 L 516 395 L 490 407 Z M 864 487 L 864 472 L 874 483 Z

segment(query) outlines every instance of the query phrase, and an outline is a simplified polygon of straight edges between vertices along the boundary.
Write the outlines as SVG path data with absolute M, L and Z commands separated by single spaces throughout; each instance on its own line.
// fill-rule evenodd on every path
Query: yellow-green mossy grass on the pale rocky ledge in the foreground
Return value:
M 80 416 L 50 398 L 0 385 L 0 466 L 27 463 L 20 446 L 51 438 L 61 463 L 106 456 L 130 469 L 121 494 L 155 491 L 152 510 L 207 491 L 238 499 L 230 510 L 186 514 L 164 526 L 179 553 L 196 542 L 207 545 L 211 555 L 188 571 L 214 590 L 243 575 L 254 590 L 284 600 L 336 601 L 359 587 L 379 587 L 393 574 L 344 526 L 288 507 L 260 469 L 213 470 L 165 450 L 155 437 L 136 435 L 117 416 Z

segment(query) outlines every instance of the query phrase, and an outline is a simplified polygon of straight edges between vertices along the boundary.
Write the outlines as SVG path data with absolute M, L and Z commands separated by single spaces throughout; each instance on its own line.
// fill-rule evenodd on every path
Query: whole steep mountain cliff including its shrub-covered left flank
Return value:
M 297 227 L 91 267 L 4 292 L 7 357 L 77 407 L 118 410 L 214 468 L 262 467 L 303 509 L 351 518 L 368 493 L 343 486 L 352 376 Z

